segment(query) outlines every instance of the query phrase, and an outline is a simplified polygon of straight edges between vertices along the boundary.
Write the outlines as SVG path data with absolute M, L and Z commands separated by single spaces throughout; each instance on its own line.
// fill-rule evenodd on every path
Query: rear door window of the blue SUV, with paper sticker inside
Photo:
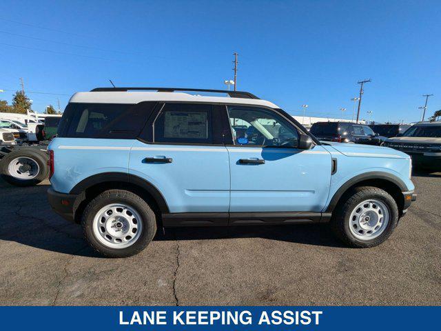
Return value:
M 154 121 L 155 143 L 213 142 L 212 106 L 166 103 Z

